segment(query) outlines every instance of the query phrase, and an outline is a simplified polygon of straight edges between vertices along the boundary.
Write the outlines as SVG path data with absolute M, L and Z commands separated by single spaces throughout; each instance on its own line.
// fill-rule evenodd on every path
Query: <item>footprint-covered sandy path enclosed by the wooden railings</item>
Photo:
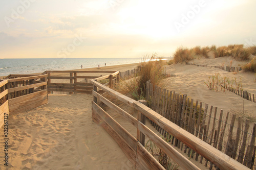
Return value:
M 92 122 L 91 101 L 90 94 L 50 95 L 48 104 L 10 115 L 8 168 L 121 169 L 127 158 Z

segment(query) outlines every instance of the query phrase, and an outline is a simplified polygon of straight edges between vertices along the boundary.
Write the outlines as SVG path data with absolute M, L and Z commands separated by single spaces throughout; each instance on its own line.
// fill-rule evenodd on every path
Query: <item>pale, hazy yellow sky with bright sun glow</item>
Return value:
M 171 57 L 256 45 L 256 1 L 2 0 L 0 59 Z

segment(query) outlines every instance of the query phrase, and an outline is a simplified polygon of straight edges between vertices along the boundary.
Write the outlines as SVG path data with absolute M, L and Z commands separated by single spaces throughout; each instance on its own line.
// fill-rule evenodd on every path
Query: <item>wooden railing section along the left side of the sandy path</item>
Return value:
M 48 75 L 12 76 L 0 82 L 0 127 L 4 124 L 5 113 L 30 110 L 48 103 Z

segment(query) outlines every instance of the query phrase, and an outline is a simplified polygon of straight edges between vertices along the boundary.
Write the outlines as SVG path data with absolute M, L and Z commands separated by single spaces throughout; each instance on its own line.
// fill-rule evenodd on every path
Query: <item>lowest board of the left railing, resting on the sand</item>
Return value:
M 36 98 L 32 98 L 32 99 L 26 100 L 26 101 L 20 100 L 20 102 L 17 103 L 17 104 L 14 104 L 14 105 L 10 105 L 9 104 L 9 111 L 13 112 L 13 111 L 15 111 L 17 109 L 23 108 L 25 106 L 31 105 L 33 103 L 36 103 L 37 101 L 42 101 L 42 100 L 45 100 L 45 99 L 47 99 L 47 95 L 46 94 L 41 95 L 41 96 L 37 96 Z

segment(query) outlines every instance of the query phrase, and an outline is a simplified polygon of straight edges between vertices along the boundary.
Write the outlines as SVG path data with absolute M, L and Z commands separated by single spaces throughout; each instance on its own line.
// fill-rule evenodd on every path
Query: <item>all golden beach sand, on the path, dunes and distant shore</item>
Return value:
M 225 61 L 224 61 L 225 60 Z M 191 63 L 222 65 L 229 58 L 196 59 Z M 240 62 L 234 62 L 240 64 Z M 119 70 L 136 68 L 138 64 L 106 66 L 79 70 Z M 199 100 L 223 109 L 232 107 L 252 110 L 255 115 L 256 103 L 242 99 L 231 92 L 209 90 L 204 81 L 208 76 L 220 73 L 221 76 L 242 78 L 243 88 L 256 94 L 255 75 L 240 71 L 237 74 L 213 67 L 175 64 L 166 66 L 169 74 L 179 75 L 164 80 L 166 88 L 187 94 L 189 98 Z M 129 160 L 111 136 L 91 118 L 90 94 L 49 95 L 49 103 L 26 112 L 9 115 L 9 164 L 10 169 L 129 169 Z M 126 110 L 127 107 L 125 107 Z M 133 110 L 129 111 L 133 113 Z M 136 136 L 132 125 L 116 115 L 118 123 Z M 136 117 L 136 115 L 134 115 Z M 147 124 L 149 125 L 149 124 Z M 3 132 L 3 127 L 1 132 Z M 3 136 L 3 133 L 1 133 Z M 0 145 L 1 153 L 4 150 Z M 195 162 L 198 166 L 198 162 Z M 201 166 L 202 167 L 202 166 Z M 200 168 L 201 168 L 200 167 Z M 3 162 L 0 169 L 5 169 Z M 202 167 L 203 168 L 203 167 Z M 131 168 L 132 169 L 132 168 Z

